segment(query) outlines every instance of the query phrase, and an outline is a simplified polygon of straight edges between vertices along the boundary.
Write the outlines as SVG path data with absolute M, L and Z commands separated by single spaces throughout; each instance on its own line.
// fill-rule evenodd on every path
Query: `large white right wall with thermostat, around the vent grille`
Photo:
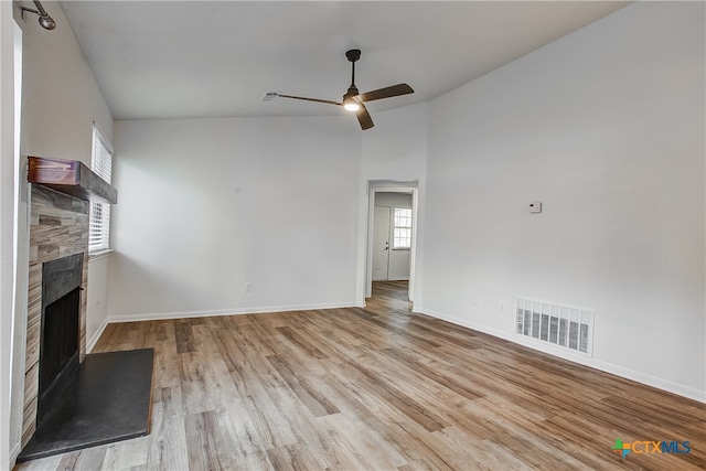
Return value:
M 638 2 L 432 100 L 420 309 L 592 308 L 579 361 L 706 400 L 704 53 L 703 2 Z

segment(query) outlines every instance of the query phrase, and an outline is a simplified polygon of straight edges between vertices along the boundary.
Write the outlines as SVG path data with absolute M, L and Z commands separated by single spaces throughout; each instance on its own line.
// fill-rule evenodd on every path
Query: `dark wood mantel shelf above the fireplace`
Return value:
M 78 160 L 30 156 L 26 180 L 84 201 L 118 202 L 118 191 Z

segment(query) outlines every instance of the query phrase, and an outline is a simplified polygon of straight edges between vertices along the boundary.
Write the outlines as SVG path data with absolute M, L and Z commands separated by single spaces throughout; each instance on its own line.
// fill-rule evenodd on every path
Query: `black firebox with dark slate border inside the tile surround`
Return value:
M 83 259 L 84 254 L 75 254 L 42 265 L 38 422 L 78 367 Z

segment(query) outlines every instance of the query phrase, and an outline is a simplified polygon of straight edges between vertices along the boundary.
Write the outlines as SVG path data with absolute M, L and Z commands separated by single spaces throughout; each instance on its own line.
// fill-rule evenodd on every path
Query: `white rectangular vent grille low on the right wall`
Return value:
M 592 355 L 593 310 L 517 298 L 516 333 Z

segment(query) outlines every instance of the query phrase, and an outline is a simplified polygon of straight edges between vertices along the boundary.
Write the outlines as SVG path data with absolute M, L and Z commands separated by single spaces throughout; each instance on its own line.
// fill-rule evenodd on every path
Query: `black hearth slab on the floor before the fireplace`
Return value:
M 148 435 L 153 361 L 153 349 L 86 355 L 18 462 Z

